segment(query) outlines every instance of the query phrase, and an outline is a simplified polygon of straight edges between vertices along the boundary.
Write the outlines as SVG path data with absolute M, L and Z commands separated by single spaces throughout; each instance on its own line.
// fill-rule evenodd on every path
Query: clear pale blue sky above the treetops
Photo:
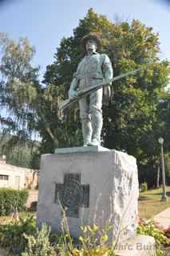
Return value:
M 61 38 L 73 34 L 90 7 L 112 21 L 118 15 L 152 26 L 160 34 L 161 58 L 170 60 L 170 4 L 165 0 L 0 0 L 0 31 L 14 40 L 29 38 L 36 49 L 34 64 L 43 74 Z

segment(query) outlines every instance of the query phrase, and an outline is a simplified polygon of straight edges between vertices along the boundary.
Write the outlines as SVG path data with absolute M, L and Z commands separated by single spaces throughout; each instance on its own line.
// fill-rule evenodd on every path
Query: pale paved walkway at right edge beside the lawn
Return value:
M 158 223 L 159 226 L 164 229 L 168 229 L 170 226 L 170 208 L 163 210 L 160 214 L 157 214 L 153 220 Z

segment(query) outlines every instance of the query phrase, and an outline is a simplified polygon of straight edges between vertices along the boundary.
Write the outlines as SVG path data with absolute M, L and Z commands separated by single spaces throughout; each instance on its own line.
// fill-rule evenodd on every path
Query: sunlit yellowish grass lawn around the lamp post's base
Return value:
M 138 207 L 140 218 L 152 218 L 156 214 L 159 214 L 160 211 L 170 207 L 170 186 L 167 186 L 166 190 L 167 202 L 160 202 L 162 188 L 140 193 Z

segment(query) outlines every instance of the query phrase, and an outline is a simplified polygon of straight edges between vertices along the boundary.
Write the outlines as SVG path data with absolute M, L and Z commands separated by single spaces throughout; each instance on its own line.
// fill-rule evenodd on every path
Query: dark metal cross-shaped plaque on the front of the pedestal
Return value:
M 67 217 L 79 217 L 80 207 L 89 207 L 89 185 L 81 185 L 81 174 L 65 174 L 56 184 L 54 203 L 61 203 Z

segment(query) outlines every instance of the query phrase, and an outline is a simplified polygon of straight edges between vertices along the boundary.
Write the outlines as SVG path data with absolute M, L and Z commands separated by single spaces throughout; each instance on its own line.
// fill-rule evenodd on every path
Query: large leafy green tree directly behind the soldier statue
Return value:
M 52 108 L 45 114 L 53 113 L 50 126 L 58 146 L 81 143 L 77 106 L 65 113 L 61 122 L 57 117 L 57 102 L 67 98 L 73 72 L 85 54 L 81 38 L 89 33 L 101 37 L 103 52 L 113 62 L 114 76 L 141 68 L 139 75 L 113 84 L 114 97 L 103 106 L 102 144 L 134 155 L 141 169 L 143 166 L 154 169 L 159 154 L 157 138 L 165 129 L 160 112 L 169 82 L 169 62 L 159 58 L 159 35 L 138 20 L 114 23 L 90 9 L 73 30 L 73 36 L 61 40 L 53 64 L 47 66 L 44 81 L 47 88 L 58 93 L 57 98 L 55 95 L 50 98 Z M 42 137 L 47 143 L 46 135 L 42 133 Z

